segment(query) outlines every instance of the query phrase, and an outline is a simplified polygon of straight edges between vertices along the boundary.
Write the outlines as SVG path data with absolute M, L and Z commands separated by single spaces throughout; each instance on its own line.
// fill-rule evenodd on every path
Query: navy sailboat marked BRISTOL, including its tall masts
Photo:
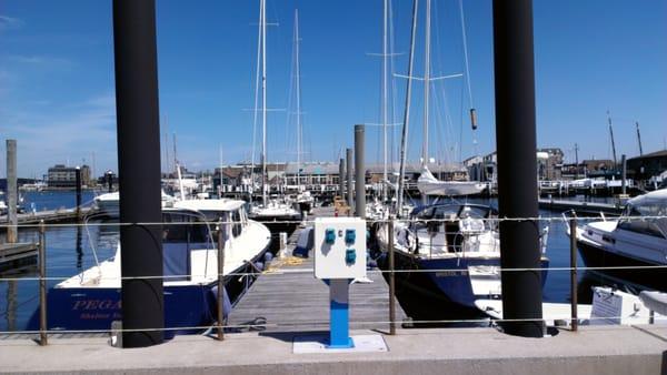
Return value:
M 418 181 L 422 190 L 424 204 L 415 209 L 408 220 L 395 222 L 392 232 L 389 223 L 381 223 L 377 230 L 377 241 L 382 255 L 378 265 L 388 268 L 388 252 L 396 255 L 396 278 L 399 288 L 411 297 L 419 295 L 430 302 L 442 304 L 445 308 L 428 305 L 429 316 L 444 316 L 450 313 L 475 313 L 475 301 L 479 298 L 499 298 L 500 288 L 500 234 L 497 222 L 498 212 L 489 205 L 472 203 L 426 204 L 427 194 L 465 195 L 478 189 L 476 182 L 438 181 L 429 171 L 428 161 L 428 98 L 430 77 L 430 3 L 426 0 L 426 67 L 425 67 L 425 112 L 422 143 L 422 174 Z M 412 9 L 412 36 L 406 90 L 406 112 L 401 136 L 401 166 L 399 175 L 399 206 L 402 202 L 402 184 L 406 162 L 406 139 L 409 121 L 409 103 L 415 53 L 417 1 Z M 461 7 L 462 18 L 462 2 Z M 460 77 L 452 74 L 448 77 Z M 438 78 L 439 79 L 439 78 Z M 481 189 L 479 190 L 481 191 Z M 425 194 L 427 193 L 427 194 Z M 399 219 L 402 212 L 398 211 Z M 542 285 L 547 275 L 549 260 L 544 255 L 548 239 L 548 227 L 540 232 L 542 256 Z M 392 240 L 392 241 L 390 241 Z M 392 247 L 390 247 L 390 244 Z M 420 312 L 422 313 L 422 312 Z

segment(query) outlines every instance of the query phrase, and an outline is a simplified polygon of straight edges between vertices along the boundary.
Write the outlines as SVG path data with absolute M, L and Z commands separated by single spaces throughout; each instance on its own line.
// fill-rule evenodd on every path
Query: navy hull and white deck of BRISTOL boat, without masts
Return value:
M 435 296 L 457 307 L 475 310 L 475 301 L 497 300 L 500 290 L 500 239 L 497 211 L 471 203 L 432 204 L 415 209 L 398 220 L 394 233 L 382 223 L 378 245 L 396 256 L 397 280 L 415 292 Z M 394 235 L 394 249 L 388 236 Z M 542 286 L 549 260 L 545 256 L 548 227 L 540 232 Z M 387 268 L 386 256 L 378 262 Z

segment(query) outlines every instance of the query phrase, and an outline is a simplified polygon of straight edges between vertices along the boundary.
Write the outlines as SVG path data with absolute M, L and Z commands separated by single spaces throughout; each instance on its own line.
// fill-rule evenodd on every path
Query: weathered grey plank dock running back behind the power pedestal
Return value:
M 319 210 L 315 216 L 332 215 Z M 298 229 L 288 250 L 296 245 Z M 350 285 L 350 328 L 389 330 L 389 287 L 379 271 L 368 271 L 372 283 Z M 406 320 L 396 302 L 396 320 Z M 329 328 L 329 287 L 313 275 L 313 259 L 276 259 L 232 308 L 228 317 L 232 332 L 322 331 Z M 256 325 L 255 327 L 249 327 Z M 400 323 L 397 324 L 400 327 Z

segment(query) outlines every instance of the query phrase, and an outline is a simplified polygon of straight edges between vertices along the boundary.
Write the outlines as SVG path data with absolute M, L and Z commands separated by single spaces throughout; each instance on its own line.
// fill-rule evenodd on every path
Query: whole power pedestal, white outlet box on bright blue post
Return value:
M 366 277 L 366 222 L 359 217 L 315 220 L 315 276 L 329 285 L 328 348 L 351 348 L 349 286 Z

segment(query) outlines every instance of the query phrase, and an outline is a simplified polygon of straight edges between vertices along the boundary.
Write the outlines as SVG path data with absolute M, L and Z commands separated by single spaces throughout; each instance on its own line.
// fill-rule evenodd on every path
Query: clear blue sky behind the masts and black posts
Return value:
M 250 159 L 259 1 L 158 0 L 161 126 L 176 132 L 190 169 Z M 421 2 L 424 3 L 424 1 Z M 293 10 L 301 29 L 306 160 L 335 160 L 352 145 L 355 123 L 379 122 L 381 0 L 268 0 L 268 104 L 289 108 Z M 397 73 L 407 69 L 411 1 L 394 0 Z M 470 81 L 479 130 L 461 112 L 462 79 L 431 85 L 430 154 L 456 161 L 495 149 L 490 0 L 466 0 Z M 634 121 L 645 152 L 667 139 L 667 2 L 535 1 L 539 146 L 574 159 L 610 156 L 606 112 L 618 154 L 635 155 Z M 424 63 L 419 14 L 416 74 Z M 0 1 L 0 134 L 16 138 L 19 174 L 54 163 L 116 170 L 113 47 L 109 0 Z M 434 0 L 432 74 L 464 71 L 458 0 Z M 405 81 L 394 79 L 400 121 Z M 420 153 L 422 83 L 414 87 L 410 158 Z M 292 109 L 293 110 L 293 109 Z M 461 111 L 462 110 L 462 111 Z M 295 126 L 269 114 L 269 159 L 296 159 Z M 379 128 L 367 129 L 367 160 L 380 160 Z M 398 129 L 395 129 L 398 131 Z M 171 135 L 170 135 L 171 138 Z M 478 145 L 474 145 L 474 138 Z M 398 141 L 398 139 L 397 139 Z M 4 142 L 0 145 L 4 175 Z M 171 151 L 170 151 L 171 153 Z

